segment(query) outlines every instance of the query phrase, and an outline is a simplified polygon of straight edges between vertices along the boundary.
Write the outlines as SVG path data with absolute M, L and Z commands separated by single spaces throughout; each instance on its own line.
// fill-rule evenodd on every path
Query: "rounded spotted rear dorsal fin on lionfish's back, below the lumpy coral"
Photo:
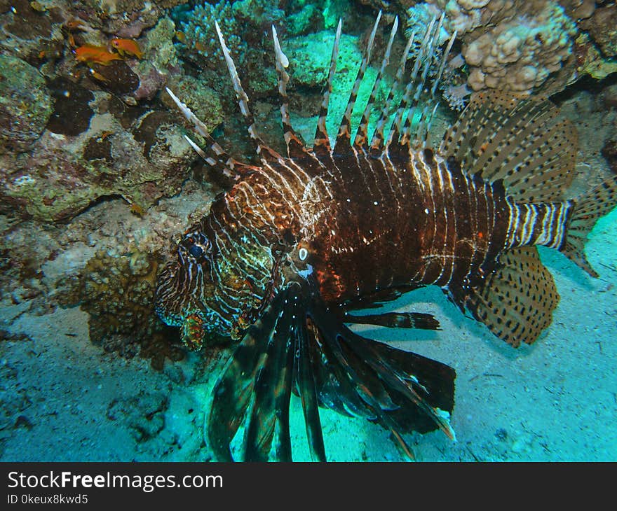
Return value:
M 556 114 L 548 99 L 476 93 L 447 130 L 440 152 L 467 174 L 503 180 L 518 202 L 559 201 L 574 177 L 577 137 Z

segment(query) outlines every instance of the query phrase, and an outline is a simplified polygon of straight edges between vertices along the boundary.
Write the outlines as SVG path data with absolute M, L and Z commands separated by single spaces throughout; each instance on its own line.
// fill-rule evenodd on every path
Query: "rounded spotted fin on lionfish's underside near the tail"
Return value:
M 450 290 L 489 330 L 512 346 L 533 343 L 552 321 L 560 296 L 535 246 L 502 253 L 491 274 L 466 293 Z

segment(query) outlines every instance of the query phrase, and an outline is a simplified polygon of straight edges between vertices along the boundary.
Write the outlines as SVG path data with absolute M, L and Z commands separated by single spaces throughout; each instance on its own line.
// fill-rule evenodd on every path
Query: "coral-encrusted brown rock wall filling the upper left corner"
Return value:
M 144 209 L 178 192 L 197 156 L 182 141 L 175 109 L 158 102 L 170 77 L 182 81 L 175 25 L 162 17 L 177 3 L 61 0 L 34 8 L 16 0 L 0 8 L 0 211 L 66 221 L 104 197 Z M 141 58 L 76 59 L 83 45 L 111 48 L 109 34 L 141 35 Z M 196 85 L 199 99 L 209 93 Z M 222 110 L 212 94 L 205 104 L 215 127 Z

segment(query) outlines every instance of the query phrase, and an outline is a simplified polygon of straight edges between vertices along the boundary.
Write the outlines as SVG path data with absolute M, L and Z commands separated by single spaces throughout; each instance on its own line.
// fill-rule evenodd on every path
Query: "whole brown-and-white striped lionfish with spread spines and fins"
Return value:
M 319 407 L 379 423 L 409 458 L 414 455 L 403 437 L 407 433 L 439 429 L 454 439 L 449 422 L 454 369 L 347 326 L 435 330 L 438 321 L 413 312 L 351 311 L 440 286 L 461 311 L 519 346 L 534 342 L 550 324 L 559 300 L 536 245 L 556 248 L 597 276 L 583 245 L 597 218 L 617 202 L 617 176 L 576 200 L 564 199 L 574 174 L 576 130 L 556 120 L 548 99 L 476 93 L 440 146 L 430 146 L 436 106 L 421 109 L 420 100 L 428 94 L 429 104 L 436 103 L 456 36 L 439 58 L 443 16 L 416 40 L 420 49 L 408 79 L 405 66 L 416 34 L 407 41 L 369 139 L 369 114 L 390 59 L 395 20 L 351 142 L 351 114 L 380 18 L 381 13 L 332 145 L 325 121 L 341 22 L 312 147 L 290 123 L 289 63 L 274 27 L 286 156 L 259 136 L 218 24 L 261 165 L 227 154 L 168 90 L 206 146 L 187 137 L 189 144 L 218 172 L 236 178 L 179 239 L 156 297 L 159 316 L 182 327 L 189 349 L 200 349 L 214 334 L 239 341 L 215 384 L 207 419 L 208 442 L 220 460 L 233 459 L 231 445 L 241 426 L 241 459 L 292 460 L 292 393 L 301 400 L 314 460 L 326 459 Z M 427 76 L 435 78 L 430 88 Z

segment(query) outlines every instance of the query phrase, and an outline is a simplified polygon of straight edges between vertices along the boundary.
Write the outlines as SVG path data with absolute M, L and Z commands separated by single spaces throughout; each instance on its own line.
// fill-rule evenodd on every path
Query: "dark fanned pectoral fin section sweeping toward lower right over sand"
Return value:
M 454 437 L 448 420 L 454 407 L 451 367 L 356 334 L 318 300 L 309 311 L 329 366 L 338 368 L 340 388 L 359 396 L 365 414 L 391 430 L 405 452 L 411 449 L 402 433 L 440 428 Z

